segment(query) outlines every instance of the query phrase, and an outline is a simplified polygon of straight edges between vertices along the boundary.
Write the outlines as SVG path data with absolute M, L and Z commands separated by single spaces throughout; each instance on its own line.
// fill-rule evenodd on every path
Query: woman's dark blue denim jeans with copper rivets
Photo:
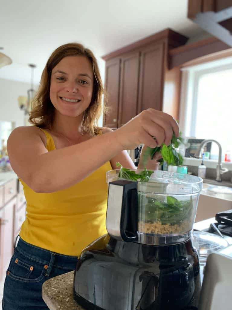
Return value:
M 76 267 L 78 257 L 53 253 L 19 237 L 6 272 L 2 310 L 48 310 L 42 284 Z

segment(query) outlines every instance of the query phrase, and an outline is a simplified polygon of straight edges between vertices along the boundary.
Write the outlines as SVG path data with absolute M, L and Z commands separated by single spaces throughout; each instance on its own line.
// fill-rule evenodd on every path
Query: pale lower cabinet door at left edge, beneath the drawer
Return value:
M 2 217 L 0 222 L 0 278 L 8 267 L 11 256 L 13 254 L 13 227 L 14 227 L 14 209 L 16 206 L 16 197 L 13 198 L 2 209 Z

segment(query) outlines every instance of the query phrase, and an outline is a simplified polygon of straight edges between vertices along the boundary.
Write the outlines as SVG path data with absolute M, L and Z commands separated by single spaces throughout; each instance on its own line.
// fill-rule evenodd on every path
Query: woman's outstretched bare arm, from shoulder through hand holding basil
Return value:
M 148 109 L 115 131 L 51 152 L 44 146 L 40 129 L 17 127 L 7 141 L 7 150 L 19 178 L 35 192 L 50 193 L 80 182 L 109 160 L 112 160 L 113 168 L 116 168 L 116 161 L 121 161 L 124 166 L 131 165 L 123 150 L 136 148 L 139 144 L 152 148 L 162 143 L 168 145 L 173 131 L 179 135 L 173 117 Z M 120 152 L 125 155 L 124 159 L 118 157 Z

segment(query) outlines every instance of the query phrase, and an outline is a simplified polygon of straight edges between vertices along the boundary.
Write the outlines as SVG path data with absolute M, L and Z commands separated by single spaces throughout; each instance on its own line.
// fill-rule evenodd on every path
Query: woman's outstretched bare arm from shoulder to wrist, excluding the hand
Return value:
M 80 182 L 122 152 L 113 134 L 48 152 L 39 128 L 17 127 L 8 138 L 7 150 L 18 177 L 35 192 L 50 193 Z

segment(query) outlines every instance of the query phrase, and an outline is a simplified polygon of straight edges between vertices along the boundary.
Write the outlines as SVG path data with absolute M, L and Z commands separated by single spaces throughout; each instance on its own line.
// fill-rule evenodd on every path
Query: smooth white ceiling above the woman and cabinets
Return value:
M 4 1 L 4 0 L 3 0 Z M 101 56 L 171 28 L 190 38 L 204 31 L 187 19 L 187 0 L 5 0 L 1 4 L 0 47 L 13 63 L 0 78 L 34 82 L 52 51 L 67 42 L 92 49 L 104 74 Z

